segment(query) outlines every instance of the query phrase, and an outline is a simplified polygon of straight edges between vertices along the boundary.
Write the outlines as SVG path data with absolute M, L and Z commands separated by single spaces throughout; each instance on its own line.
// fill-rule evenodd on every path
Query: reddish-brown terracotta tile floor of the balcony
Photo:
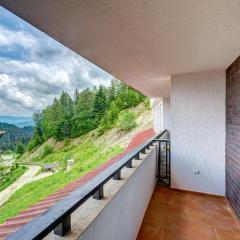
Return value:
M 137 240 L 240 240 L 226 200 L 157 186 Z

